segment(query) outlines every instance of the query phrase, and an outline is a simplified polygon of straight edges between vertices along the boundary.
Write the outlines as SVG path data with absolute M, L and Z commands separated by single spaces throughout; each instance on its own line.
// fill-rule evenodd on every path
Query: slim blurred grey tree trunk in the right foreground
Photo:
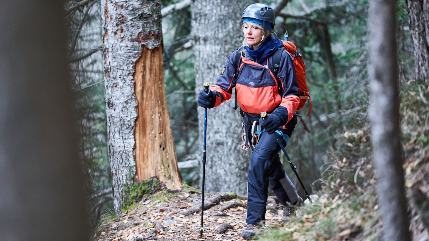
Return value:
M 385 241 L 410 240 L 399 126 L 395 1 L 370 2 L 371 133 Z

